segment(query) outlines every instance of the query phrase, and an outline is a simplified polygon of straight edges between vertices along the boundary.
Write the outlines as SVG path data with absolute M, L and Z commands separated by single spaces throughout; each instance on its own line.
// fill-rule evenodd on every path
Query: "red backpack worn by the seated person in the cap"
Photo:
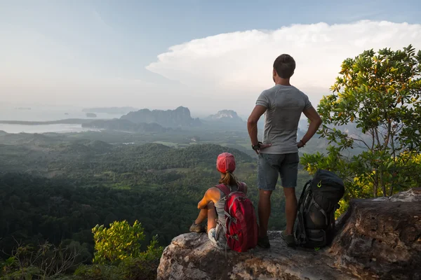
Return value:
M 224 184 L 216 186 L 225 193 L 225 221 L 227 245 L 234 251 L 246 252 L 258 244 L 258 223 L 253 204 L 244 193 L 243 183 L 231 191 Z

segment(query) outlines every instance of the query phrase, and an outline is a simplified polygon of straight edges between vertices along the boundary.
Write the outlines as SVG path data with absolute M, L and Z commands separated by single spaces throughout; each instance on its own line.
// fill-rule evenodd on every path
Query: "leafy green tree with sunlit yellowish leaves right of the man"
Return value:
M 328 153 L 304 155 L 305 168 L 342 176 L 345 200 L 389 196 L 419 185 L 420 75 L 421 51 L 411 45 L 345 59 L 332 94 L 318 106 L 323 119 L 319 134 L 329 141 Z M 349 128 L 356 131 L 345 131 Z M 362 152 L 350 157 L 353 148 Z

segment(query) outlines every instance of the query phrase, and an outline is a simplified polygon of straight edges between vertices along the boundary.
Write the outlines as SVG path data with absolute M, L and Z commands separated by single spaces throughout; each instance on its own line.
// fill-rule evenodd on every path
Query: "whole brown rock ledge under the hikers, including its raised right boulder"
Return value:
M 332 246 L 289 248 L 270 232 L 270 249 L 218 251 L 205 234 L 175 237 L 158 279 L 421 279 L 421 188 L 352 200 Z

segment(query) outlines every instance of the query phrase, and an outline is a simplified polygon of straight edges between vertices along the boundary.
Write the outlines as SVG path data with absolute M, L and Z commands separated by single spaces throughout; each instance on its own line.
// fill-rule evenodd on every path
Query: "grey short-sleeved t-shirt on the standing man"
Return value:
M 265 106 L 263 144 L 272 144 L 260 153 L 297 153 L 297 130 L 304 109 L 312 104 L 306 94 L 292 85 L 275 85 L 260 94 L 256 105 Z

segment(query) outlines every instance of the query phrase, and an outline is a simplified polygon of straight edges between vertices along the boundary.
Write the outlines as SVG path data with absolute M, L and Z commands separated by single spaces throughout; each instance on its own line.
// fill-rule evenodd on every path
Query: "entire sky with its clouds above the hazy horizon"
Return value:
M 246 115 L 282 53 L 317 104 L 347 57 L 420 50 L 420 13 L 418 0 L 0 0 L 0 105 Z

